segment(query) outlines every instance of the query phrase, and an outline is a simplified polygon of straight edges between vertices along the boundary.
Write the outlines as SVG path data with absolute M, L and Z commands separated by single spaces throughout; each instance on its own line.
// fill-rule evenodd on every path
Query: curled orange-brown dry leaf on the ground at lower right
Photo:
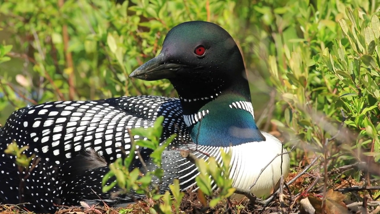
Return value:
M 346 196 L 343 195 L 342 193 L 336 192 L 330 189 L 326 193 L 326 200 L 325 200 L 326 214 L 347 213 L 348 208 L 346 204 L 343 202 L 345 198 Z

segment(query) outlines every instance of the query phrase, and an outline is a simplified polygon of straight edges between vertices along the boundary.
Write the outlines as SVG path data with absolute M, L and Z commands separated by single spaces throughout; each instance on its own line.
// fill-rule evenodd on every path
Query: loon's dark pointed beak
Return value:
M 165 62 L 165 54 L 161 53 L 134 70 L 129 77 L 141 80 L 162 80 L 175 77 L 177 70 L 184 67 L 180 64 Z

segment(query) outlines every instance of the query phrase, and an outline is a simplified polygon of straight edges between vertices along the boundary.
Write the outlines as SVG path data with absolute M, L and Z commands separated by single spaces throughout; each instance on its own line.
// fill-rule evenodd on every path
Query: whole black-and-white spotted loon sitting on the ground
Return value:
M 128 129 L 152 127 L 160 116 L 164 117 L 160 142 L 177 135 L 162 153 L 160 191 L 168 190 L 176 178 L 182 191 L 196 186 L 199 172 L 178 150 L 192 150 L 198 158 L 217 160 L 220 149 L 231 151 L 233 187 L 257 197 L 268 197 L 280 177 L 288 175 L 287 150 L 277 138 L 257 127 L 242 54 L 221 26 L 206 21 L 174 26 L 161 52 L 130 77 L 167 79 L 178 98 L 142 95 L 52 101 L 13 112 L 0 128 L 0 203 L 17 204 L 22 198 L 30 203 L 25 204 L 29 211 L 53 213 L 56 204 L 105 201 L 117 206 L 131 202 L 139 195 L 111 197 L 111 192 L 119 189 L 103 193 L 101 180 L 110 163 L 129 154 L 131 141 L 144 139 L 131 139 Z M 38 158 L 33 170 L 19 172 L 15 157 L 4 153 L 12 142 L 28 146 L 24 154 Z M 139 149 L 147 170 L 154 170 L 149 157 L 153 151 Z M 136 167 L 141 168 L 137 158 L 130 169 Z

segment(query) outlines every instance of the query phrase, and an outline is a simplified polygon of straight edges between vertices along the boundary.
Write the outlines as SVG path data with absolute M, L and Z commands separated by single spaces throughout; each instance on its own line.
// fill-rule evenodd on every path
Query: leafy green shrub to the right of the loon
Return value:
M 361 10 L 353 10 L 355 3 L 348 7 L 340 1 L 319 1 L 313 3 L 314 7 L 306 7 L 305 3 L 301 1 L 297 15 L 284 15 L 268 23 L 278 32 L 273 36 L 275 43 L 269 45 L 269 80 L 281 96 L 276 103 L 278 115 L 272 122 L 289 136 L 292 144 L 302 148 L 292 154 L 293 158 L 329 150 L 338 157 L 338 166 L 349 163 L 346 160 L 363 161 L 363 154 L 378 161 L 380 69 L 376 6 L 364 4 Z M 321 10 L 322 5 L 329 9 Z M 293 6 L 288 2 L 282 10 L 293 10 Z M 349 129 L 337 136 L 343 144 L 326 145 L 326 139 L 340 129 L 334 123 L 343 120 Z M 355 132 L 359 132 L 357 137 Z

